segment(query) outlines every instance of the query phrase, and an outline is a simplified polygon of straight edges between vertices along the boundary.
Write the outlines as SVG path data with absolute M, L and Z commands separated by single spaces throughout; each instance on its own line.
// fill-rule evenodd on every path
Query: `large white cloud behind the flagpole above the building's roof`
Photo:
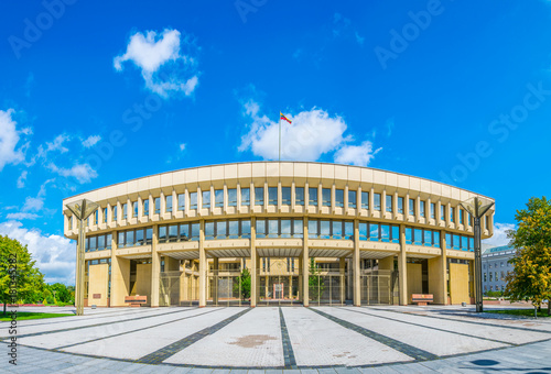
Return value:
M 255 155 L 264 160 L 278 160 L 279 157 L 279 123 L 270 120 L 267 116 L 260 114 L 260 106 L 250 100 L 245 103 L 245 116 L 252 120 L 248 133 L 241 138 L 239 151 L 250 150 Z M 316 161 L 323 154 L 335 152 L 343 147 L 345 151 L 337 151 L 337 154 L 343 154 L 342 160 L 352 153 L 353 147 L 348 143 L 353 141 L 350 135 L 344 135 L 346 123 L 339 116 L 331 117 L 323 109 L 313 108 L 310 111 L 302 111 L 292 117 L 287 116 L 292 123 L 281 121 L 281 160 L 293 161 Z M 367 142 L 369 143 L 369 142 Z M 372 145 L 367 143 L 357 146 L 363 151 L 361 160 L 367 163 L 372 158 Z M 369 152 L 367 152 L 369 151 Z M 336 155 L 335 154 L 335 157 Z

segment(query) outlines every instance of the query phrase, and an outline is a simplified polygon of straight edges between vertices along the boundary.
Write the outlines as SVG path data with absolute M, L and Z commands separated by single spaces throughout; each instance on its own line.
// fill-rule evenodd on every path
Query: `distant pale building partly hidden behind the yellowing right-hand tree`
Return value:
M 503 245 L 486 249 L 482 254 L 483 264 L 483 293 L 489 290 L 505 290 L 507 273 L 514 271 L 509 260 L 515 256 L 514 248 Z

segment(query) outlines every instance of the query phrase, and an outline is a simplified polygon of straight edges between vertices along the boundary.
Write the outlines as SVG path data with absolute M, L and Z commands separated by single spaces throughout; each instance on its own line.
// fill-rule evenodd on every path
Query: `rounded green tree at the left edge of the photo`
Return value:
M 0 300 L 7 304 L 33 300 L 44 288 L 44 275 L 35 267 L 26 245 L 0 235 Z M 12 298 L 10 292 L 17 292 Z

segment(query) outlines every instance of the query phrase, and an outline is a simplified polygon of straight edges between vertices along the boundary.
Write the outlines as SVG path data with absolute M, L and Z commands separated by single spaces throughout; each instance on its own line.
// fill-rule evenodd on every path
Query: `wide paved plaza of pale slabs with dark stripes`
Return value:
M 0 373 L 551 372 L 551 321 L 471 310 L 86 309 L 18 321 L 18 366 L 2 353 Z M 8 322 L 0 327 L 7 339 Z

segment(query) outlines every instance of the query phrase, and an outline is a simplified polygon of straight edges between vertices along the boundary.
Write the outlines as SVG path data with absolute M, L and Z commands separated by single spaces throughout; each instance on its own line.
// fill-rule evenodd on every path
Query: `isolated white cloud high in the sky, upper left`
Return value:
M 195 59 L 181 53 L 182 42 L 186 47 L 192 46 L 177 30 L 165 29 L 159 35 L 154 31 L 137 32 L 130 36 L 126 53 L 115 57 L 114 66 L 121 72 L 123 63 L 132 62 L 141 69 L 145 87 L 162 97 L 173 92 L 190 96 L 198 85 L 198 77 Z

